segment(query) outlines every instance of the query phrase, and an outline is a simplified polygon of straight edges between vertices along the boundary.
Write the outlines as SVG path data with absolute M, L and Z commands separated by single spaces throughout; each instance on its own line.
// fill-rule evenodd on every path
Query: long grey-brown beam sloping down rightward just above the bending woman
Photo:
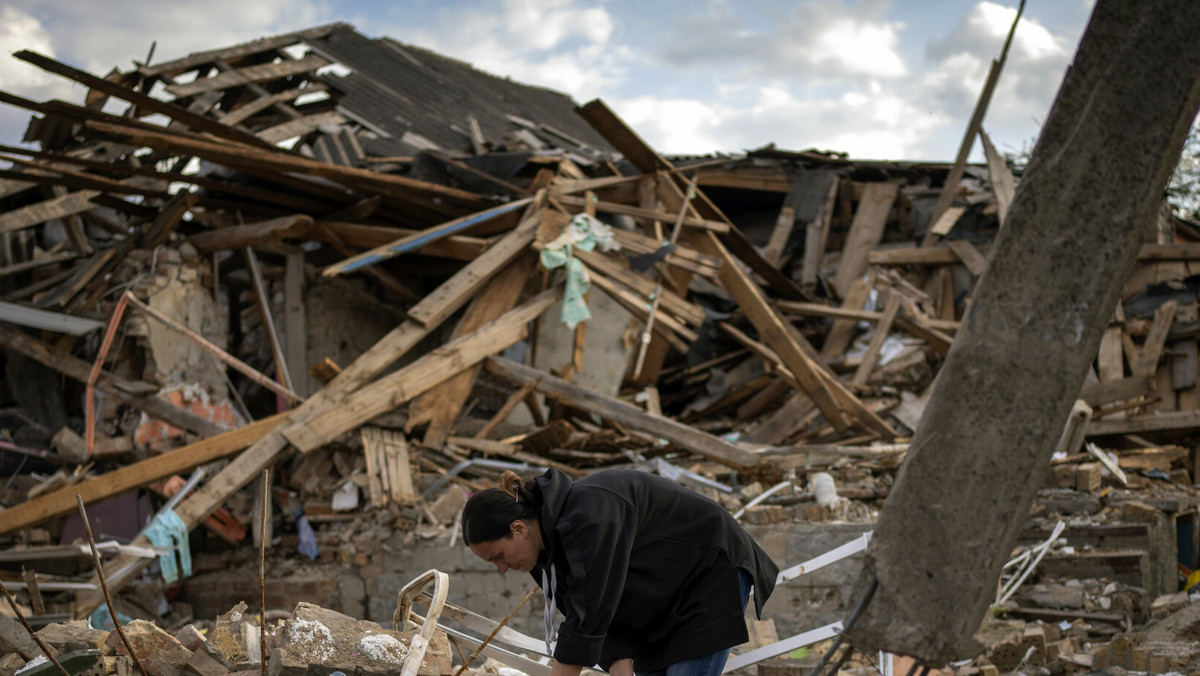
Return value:
M 545 373 L 530 366 L 517 364 L 516 361 L 499 357 L 490 357 L 486 369 L 488 372 L 508 378 L 515 383 L 536 383 L 536 390 L 541 394 L 560 401 L 568 406 L 588 411 L 622 425 L 647 432 L 676 443 L 692 453 L 697 453 L 722 465 L 738 468 L 751 468 L 766 462 L 752 453 L 746 453 L 740 448 L 702 432 L 689 425 L 677 423 L 670 418 L 650 415 L 641 408 L 619 401 L 602 394 L 598 394 L 587 388 L 571 384 L 562 378 Z

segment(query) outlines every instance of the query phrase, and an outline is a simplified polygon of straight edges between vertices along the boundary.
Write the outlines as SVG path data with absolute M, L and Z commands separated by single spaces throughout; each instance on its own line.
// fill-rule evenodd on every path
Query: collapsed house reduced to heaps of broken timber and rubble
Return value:
M 985 134 L 985 166 L 668 160 L 600 101 L 344 24 L 103 78 L 16 56 L 88 96 L 0 92 L 40 146 L 0 175 L 0 579 L 104 672 L 119 641 L 71 623 L 112 622 L 89 528 L 119 615 L 186 646 L 164 674 L 296 653 L 229 611 L 264 544 L 293 626 L 301 603 L 386 624 L 428 568 L 506 615 L 528 582 L 488 593 L 454 546 L 505 468 L 668 475 L 784 566 L 870 531 L 1016 181 Z M 1196 234 L 1164 210 L 1142 247 L 960 671 L 1200 659 Z M 780 590 L 774 632 L 845 615 L 847 566 Z M 218 616 L 222 651 L 186 630 Z M 0 627 L 14 672 L 37 651 Z

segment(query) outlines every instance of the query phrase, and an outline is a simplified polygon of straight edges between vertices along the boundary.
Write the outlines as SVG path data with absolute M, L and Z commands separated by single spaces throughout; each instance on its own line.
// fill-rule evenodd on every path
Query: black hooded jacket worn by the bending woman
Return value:
M 607 669 L 634 658 L 650 671 L 745 642 L 738 570 L 754 580 L 755 610 L 778 567 L 716 502 L 662 477 L 607 469 L 571 481 L 550 469 L 541 492 L 546 549 L 564 620 L 554 659 Z

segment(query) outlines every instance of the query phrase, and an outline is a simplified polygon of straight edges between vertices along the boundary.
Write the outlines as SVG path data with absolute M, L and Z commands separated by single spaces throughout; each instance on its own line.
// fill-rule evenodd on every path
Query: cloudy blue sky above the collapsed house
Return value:
M 984 130 L 1032 148 L 1094 0 L 1027 0 Z M 0 90 L 84 90 L 10 54 L 96 74 L 331 22 L 602 98 L 667 155 L 768 144 L 953 161 L 1018 0 L 4 0 Z M 0 143 L 30 114 L 0 103 Z M 974 144 L 972 161 L 982 160 Z

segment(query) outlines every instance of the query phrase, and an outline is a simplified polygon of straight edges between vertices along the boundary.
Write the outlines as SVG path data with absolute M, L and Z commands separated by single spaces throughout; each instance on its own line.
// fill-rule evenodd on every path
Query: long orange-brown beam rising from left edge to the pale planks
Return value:
M 0 519 L 0 534 L 74 512 L 77 495 L 84 504 L 92 504 L 238 453 L 262 438 L 281 419 L 282 415 L 264 418 L 16 504 Z

